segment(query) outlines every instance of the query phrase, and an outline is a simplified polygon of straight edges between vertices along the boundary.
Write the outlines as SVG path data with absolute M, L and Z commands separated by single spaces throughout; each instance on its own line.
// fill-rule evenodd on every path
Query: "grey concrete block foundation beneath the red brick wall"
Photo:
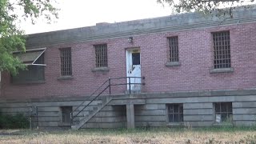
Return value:
M 90 109 L 100 101 L 93 102 L 92 106 L 82 111 L 79 117 L 82 118 L 89 113 Z M 37 114 L 32 115 L 34 127 L 62 128 L 60 106 L 73 106 L 74 109 L 81 102 L 82 98 L 2 99 L 0 110 L 3 114 L 23 113 L 28 115 L 33 114 L 30 112 L 30 107 L 36 106 Z M 131 96 L 115 95 L 111 102 L 82 128 L 215 126 L 214 102 L 232 102 L 233 114 L 230 124 L 234 126 L 256 124 L 256 90 L 218 90 Z M 183 104 L 184 122 L 177 124 L 168 121 L 166 106 L 174 103 Z

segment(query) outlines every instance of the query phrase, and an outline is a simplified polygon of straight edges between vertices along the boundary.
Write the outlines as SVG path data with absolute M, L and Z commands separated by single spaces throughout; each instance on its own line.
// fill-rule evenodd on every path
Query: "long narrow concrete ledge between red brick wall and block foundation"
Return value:
M 204 90 L 204 91 L 181 91 L 181 92 L 152 92 L 142 94 L 113 94 L 113 100 L 117 99 L 145 99 L 145 98 L 203 98 L 203 97 L 224 97 L 224 96 L 253 96 L 256 95 L 255 89 L 249 90 Z M 102 95 L 99 99 L 102 99 L 108 95 Z M 90 101 L 88 95 L 84 96 L 53 96 L 42 98 L 1 98 L 0 104 L 6 104 L 8 102 L 74 102 L 74 101 Z

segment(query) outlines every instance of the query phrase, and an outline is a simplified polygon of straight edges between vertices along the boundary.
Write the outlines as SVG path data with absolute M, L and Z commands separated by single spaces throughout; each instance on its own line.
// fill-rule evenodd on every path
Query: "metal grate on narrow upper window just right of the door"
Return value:
M 168 38 L 170 47 L 170 62 L 178 62 L 178 37 Z

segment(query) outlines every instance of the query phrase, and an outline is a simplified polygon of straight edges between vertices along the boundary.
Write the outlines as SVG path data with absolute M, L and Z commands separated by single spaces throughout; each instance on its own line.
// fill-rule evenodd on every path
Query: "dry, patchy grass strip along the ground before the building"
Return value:
M 0 130 L 0 143 L 250 143 L 254 127 L 115 130 Z

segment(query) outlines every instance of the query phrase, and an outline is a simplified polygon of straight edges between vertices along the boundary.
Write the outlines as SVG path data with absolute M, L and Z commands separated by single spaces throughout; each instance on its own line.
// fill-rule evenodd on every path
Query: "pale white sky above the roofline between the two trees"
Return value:
M 171 14 L 169 6 L 157 0 L 62 0 L 58 1 L 59 19 L 52 24 L 39 20 L 35 25 L 22 22 L 26 34 L 94 26 L 98 22 L 125 22 Z

